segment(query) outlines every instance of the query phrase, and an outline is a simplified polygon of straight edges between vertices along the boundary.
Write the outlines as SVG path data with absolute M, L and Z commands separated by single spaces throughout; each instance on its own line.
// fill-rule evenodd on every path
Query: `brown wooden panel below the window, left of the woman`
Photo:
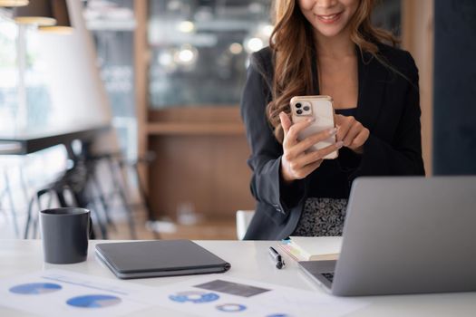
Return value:
M 233 219 L 236 210 L 254 208 L 244 135 L 153 135 L 149 144 L 157 152 L 149 179 L 156 216 L 175 218 L 182 203 L 209 219 Z

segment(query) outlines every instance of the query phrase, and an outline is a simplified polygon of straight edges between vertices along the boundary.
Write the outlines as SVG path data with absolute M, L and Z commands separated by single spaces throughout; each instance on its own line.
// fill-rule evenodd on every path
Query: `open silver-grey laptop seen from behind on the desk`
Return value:
M 476 177 L 356 179 L 339 259 L 299 264 L 339 296 L 476 291 Z

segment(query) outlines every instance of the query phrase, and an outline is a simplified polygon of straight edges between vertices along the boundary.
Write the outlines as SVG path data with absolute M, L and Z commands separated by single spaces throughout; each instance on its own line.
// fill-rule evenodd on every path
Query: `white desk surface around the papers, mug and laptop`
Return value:
M 88 260 L 81 264 L 44 264 L 41 241 L 39 240 L 0 240 L 0 277 L 29 274 L 48 268 L 60 268 L 82 274 L 91 274 L 115 279 L 111 271 L 94 255 L 91 241 Z M 219 255 L 231 264 L 224 276 L 253 279 L 266 283 L 296 287 L 304 290 L 323 292 L 319 286 L 307 279 L 297 264 L 285 255 L 287 267 L 277 270 L 267 253 L 269 245 L 277 242 L 252 241 L 198 241 L 212 253 Z M 451 274 L 451 273 L 449 273 Z M 190 276 L 161 277 L 130 280 L 130 283 L 142 283 L 149 286 L 162 286 L 177 283 Z M 371 304 L 363 310 L 348 316 L 476 316 L 476 293 L 441 293 L 400 296 L 366 297 Z M 172 312 L 160 306 L 135 316 L 186 316 L 181 312 Z M 29 316 L 9 308 L 0 307 L 0 316 Z

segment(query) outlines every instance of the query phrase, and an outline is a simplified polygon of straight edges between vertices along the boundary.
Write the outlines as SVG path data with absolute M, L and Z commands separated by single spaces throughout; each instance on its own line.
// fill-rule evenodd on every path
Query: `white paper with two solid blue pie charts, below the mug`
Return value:
M 0 305 L 43 316 L 121 316 L 157 305 L 155 288 L 63 270 L 0 280 Z

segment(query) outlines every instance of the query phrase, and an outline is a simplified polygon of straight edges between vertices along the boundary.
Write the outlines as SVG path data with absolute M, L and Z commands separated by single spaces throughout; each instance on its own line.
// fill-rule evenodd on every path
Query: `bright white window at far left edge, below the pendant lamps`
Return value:
M 17 25 L 0 14 L 0 130 L 35 129 L 49 123 L 53 111 L 46 66 L 34 27 Z

